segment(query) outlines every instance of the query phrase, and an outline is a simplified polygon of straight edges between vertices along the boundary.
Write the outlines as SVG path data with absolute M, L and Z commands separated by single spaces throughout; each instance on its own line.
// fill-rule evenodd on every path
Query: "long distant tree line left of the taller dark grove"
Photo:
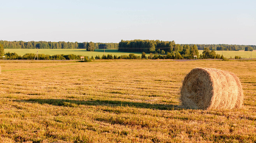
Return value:
M 93 43 L 93 42 L 89 42 Z M 87 48 L 88 42 L 47 42 L 47 41 L 0 41 L 5 49 L 77 49 L 77 48 Z M 117 49 L 118 43 L 93 43 L 95 49 Z

